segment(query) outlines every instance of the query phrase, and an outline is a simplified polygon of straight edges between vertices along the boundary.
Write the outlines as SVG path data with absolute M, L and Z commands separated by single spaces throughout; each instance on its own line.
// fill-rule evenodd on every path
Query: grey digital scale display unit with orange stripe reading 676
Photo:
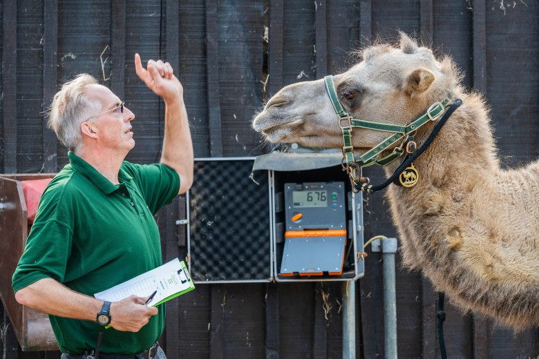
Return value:
M 280 275 L 340 275 L 346 248 L 344 182 L 285 183 Z

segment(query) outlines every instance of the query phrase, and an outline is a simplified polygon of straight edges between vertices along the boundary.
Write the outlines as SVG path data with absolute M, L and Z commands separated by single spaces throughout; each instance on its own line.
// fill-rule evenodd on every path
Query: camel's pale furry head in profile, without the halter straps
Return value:
M 366 48 L 362 61 L 334 77 L 337 96 L 352 117 L 405 125 L 442 101 L 459 78 L 451 59 L 437 61 L 429 48 L 401 34 L 399 46 Z M 285 86 L 253 120 L 253 128 L 270 142 L 341 148 L 338 116 L 323 79 Z M 354 128 L 352 144 L 363 152 L 388 133 Z

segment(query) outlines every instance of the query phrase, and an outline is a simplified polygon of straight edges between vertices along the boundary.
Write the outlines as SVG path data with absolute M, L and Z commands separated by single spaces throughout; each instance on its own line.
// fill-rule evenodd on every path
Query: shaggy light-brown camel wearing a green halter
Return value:
M 537 326 L 539 161 L 500 168 L 484 98 L 464 90 L 451 57 L 435 57 L 402 33 L 398 43 L 379 41 L 360 55 L 359 63 L 333 77 L 339 102 L 354 119 L 405 126 L 434 107 L 447 110 L 462 101 L 413 161 L 417 183 L 387 187 L 404 265 L 420 269 L 464 312 L 515 331 Z M 269 142 L 343 148 L 347 119 L 339 119 L 325 86 L 325 79 L 285 86 L 255 115 L 254 130 Z M 410 142 L 425 144 L 441 121 L 432 117 L 412 133 L 413 141 L 404 137 L 372 160 Z M 387 138 L 388 132 L 352 128 L 354 158 Z M 401 158 L 384 166 L 388 177 Z

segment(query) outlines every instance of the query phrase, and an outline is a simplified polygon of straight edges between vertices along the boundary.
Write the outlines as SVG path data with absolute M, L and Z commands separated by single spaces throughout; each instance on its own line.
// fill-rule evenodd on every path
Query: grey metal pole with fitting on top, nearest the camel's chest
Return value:
M 397 294 L 395 291 L 395 253 L 397 238 L 381 240 L 384 262 L 384 347 L 387 359 L 397 359 Z

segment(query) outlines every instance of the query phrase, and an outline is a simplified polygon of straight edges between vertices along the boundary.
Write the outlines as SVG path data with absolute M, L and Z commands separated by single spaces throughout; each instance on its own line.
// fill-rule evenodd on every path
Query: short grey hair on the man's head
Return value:
M 86 86 L 97 84 L 97 79 L 88 74 L 80 74 L 67 81 L 53 97 L 46 117 L 60 142 L 75 153 L 82 144 L 80 125 L 101 110 L 99 100 L 90 100 L 84 93 Z

